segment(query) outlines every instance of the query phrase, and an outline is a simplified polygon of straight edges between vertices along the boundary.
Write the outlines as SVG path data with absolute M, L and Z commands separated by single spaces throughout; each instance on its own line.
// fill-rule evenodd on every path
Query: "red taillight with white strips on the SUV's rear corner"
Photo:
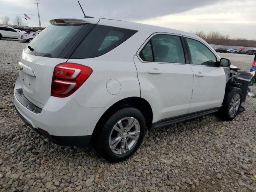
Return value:
M 90 67 L 61 63 L 54 68 L 51 96 L 67 97 L 74 93 L 92 74 Z

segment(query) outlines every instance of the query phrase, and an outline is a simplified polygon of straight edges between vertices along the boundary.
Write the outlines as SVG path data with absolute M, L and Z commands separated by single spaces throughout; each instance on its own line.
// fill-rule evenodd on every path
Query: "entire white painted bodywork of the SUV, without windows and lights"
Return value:
M 80 20 L 98 22 L 90 18 Z M 15 96 L 14 104 L 34 128 L 42 128 L 55 136 L 91 135 L 102 114 L 116 102 L 129 97 L 142 97 L 149 102 L 153 110 L 153 122 L 221 105 L 225 89 L 223 68 L 210 70 L 209 67 L 189 64 L 145 63 L 136 56 L 148 37 L 157 32 L 189 36 L 208 46 L 201 38 L 178 30 L 132 22 L 100 19 L 98 24 L 138 32 L 110 52 L 96 58 L 67 60 L 22 52 L 20 62 L 32 68 L 36 77 L 21 71 L 15 89 L 22 88 L 26 98 L 42 108 L 42 112 L 35 114 L 29 111 Z M 216 57 L 220 59 L 217 54 Z M 71 96 L 52 97 L 54 67 L 67 61 L 88 66 L 93 72 Z M 161 70 L 162 74 L 148 74 L 148 70 L 154 68 Z M 197 70 L 204 72 L 204 81 L 194 77 L 193 71 Z M 120 86 L 110 81 L 113 79 Z

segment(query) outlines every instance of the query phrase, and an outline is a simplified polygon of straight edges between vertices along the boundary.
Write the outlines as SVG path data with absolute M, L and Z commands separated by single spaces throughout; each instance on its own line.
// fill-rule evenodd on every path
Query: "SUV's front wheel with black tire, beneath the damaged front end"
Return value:
M 242 91 L 237 87 L 228 87 L 225 92 L 219 115 L 223 120 L 231 121 L 238 114 L 242 104 Z

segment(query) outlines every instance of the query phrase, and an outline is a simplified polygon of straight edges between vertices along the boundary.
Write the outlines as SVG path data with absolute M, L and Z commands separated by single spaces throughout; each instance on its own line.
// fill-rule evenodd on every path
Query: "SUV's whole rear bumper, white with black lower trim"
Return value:
M 107 108 L 84 108 L 70 96 L 51 96 L 42 109 L 35 110 L 25 96 L 17 95 L 17 90 L 22 89 L 19 81 L 18 78 L 14 88 L 14 105 L 26 124 L 58 144 L 88 145 L 98 120 Z

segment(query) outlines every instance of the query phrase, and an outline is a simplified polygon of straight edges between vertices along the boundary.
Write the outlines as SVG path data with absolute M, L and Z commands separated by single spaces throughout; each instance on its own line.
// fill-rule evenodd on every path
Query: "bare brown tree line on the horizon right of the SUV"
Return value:
M 209 32 L 208 34 L 206 34 L 203 31 L 200 31 L 195 32 L 194 34 L 201 37 L 209 44 L 256 47 L 256 40 L 247 40 L 246 38 L 230 39 L 229 35 L 222 35 L 219 32 Z

